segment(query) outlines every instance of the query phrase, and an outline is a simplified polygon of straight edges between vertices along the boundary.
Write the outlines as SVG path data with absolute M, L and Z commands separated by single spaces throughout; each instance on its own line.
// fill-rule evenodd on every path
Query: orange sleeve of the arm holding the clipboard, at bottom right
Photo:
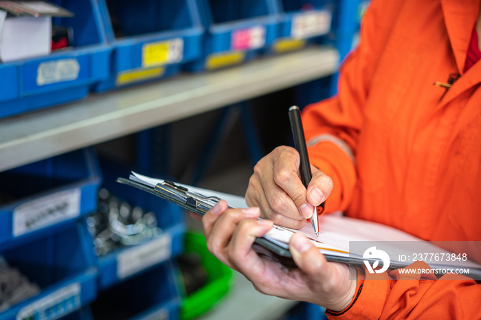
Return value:
M 414 262 L 407 268 L 429 268 Z M 437 280 L 399 271 L 371 275 L 361 282 L 357 299 L 342 312 L 326 311 L 329 319 L 481 319 L 481 284 L 462 275 Z M 354 299 L 353 299 L 354 300 Z

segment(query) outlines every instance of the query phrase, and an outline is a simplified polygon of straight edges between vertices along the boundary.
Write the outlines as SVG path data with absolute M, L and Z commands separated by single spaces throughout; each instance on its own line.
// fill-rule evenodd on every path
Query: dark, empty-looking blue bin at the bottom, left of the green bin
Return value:
M 99 293 L 91 304 L 94 319 L 179 319 L 179 275 L 167 262 Z

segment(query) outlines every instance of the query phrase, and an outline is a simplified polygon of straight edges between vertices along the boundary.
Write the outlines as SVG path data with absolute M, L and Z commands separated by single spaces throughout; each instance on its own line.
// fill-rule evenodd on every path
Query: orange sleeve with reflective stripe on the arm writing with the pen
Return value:
M 349 54 L 340 69 L 339 94 L 306 106 L 302 113 L 309 159 L 331 176 L 334 183 L 333 192 L 326 201 L 326 212 L 345 211 L 353 198 L 357 183 L 353 156 L 363 122 L 370 75 L 399 2 L 372 1 L 363 19 L 359 47 Z

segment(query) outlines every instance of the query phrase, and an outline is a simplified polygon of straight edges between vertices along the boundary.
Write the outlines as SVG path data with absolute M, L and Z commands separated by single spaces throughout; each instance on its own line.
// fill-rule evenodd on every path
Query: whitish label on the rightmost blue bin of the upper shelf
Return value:
M 331 30 L 332 14 L 329 10 L 311 11 L 293 16 L 292 38 L 309 38 L 327 34 Z

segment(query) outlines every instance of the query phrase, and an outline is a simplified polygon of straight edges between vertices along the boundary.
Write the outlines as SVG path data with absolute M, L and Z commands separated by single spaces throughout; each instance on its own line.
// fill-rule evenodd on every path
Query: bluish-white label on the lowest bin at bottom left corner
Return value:
M 54 320 L 80 308 L 80 284 L 74 282 L 20 309 L 16 320 Z

